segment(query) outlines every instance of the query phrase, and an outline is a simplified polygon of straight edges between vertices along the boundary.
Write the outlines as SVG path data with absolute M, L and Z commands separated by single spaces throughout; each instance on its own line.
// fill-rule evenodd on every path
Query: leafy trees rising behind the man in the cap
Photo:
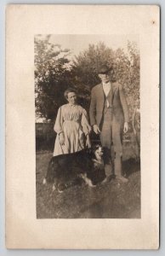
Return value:
M 88 49 L 77 55 L 74 73 L 79 90 L 85 88 L 87 108 L 92 87 L 100 83 L 98 69 L 103 64 L 113 67 L 113 79 L 123 85 L 132 118 L 134 105 L 139 104 L 139 50 L 136 44 L 128 42 L 127 52 L 121 48 L 110 49 L 104 43 L 89 44 Z

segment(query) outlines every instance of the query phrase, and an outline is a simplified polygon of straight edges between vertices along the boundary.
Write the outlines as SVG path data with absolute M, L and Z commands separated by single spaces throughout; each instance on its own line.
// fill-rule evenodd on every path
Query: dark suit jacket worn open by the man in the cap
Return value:
M 128 104 L 122 89 L 122 85 L 118 82 L 111 84 L 111 91 L 108 97 L 112 113 L 116 117 L 117 122 L 121 125 L 128 122 Z M 102 84 L 94 86 L 91 92 L 91 102 L 89 108 L 89 116 L 91 125 L 98 125 L 103 117 L 105 108 L 105 93 Z

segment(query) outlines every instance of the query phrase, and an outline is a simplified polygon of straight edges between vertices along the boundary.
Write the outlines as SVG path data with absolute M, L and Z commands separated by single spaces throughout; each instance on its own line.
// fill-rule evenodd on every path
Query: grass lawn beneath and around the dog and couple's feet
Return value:
M 140 218 L 140 166 L 134 148 L 123 148 L 123 170 L 128 183 L 109 183 L 88 187 L 76 184 L 60 194 L 52 185 L 43 185 L 51 152 L 37 152 L 37 218 Z

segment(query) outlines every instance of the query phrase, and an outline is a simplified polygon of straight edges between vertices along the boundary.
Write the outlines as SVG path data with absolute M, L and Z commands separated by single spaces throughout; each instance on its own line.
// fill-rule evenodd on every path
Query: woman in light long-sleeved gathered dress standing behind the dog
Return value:
M 55 120 L 54 131 L 57 133 L 54 145 L 54 156 L 70 154 L 91 147 L 87 112 L 77 104 L 77 93 L 74 89 L 65 90 L 67 104 L 61 106 Z M 84 143 L 85 141 L 85 143 Z

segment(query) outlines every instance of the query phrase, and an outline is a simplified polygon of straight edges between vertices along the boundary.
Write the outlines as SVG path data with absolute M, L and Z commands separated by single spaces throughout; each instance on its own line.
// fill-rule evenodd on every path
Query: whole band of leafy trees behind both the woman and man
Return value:
M 35 38 L 35 93 L 37 116 L 54 122 L 58 108 L 65 103 L 64 91 L 68 87 L 77 89 L 79 103 L 88 111 L 90 91 L 100 83 L 97 71 L 102 65 L 112 66 L 113 77 L 124 87 L 130 119 L 135 106 L 139 106 L 139 49 L 128 42 L 127 52 L 107 47 L 104 43 L 89 44 L 88 49 L 71 60 L 70 49 L 59 44 Z

